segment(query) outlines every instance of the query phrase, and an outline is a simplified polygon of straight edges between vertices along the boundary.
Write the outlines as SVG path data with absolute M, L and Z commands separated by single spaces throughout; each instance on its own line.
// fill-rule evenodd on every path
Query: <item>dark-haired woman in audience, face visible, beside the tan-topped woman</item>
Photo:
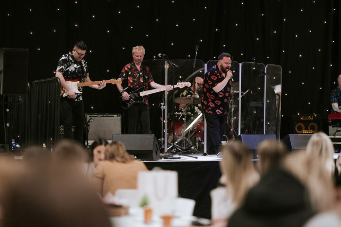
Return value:
M 91 144 L 89 152 L 89 162 L 85 164 L 85 175 L 92 177 L 95 173 L 95 168 L 100 161 L 104 160 L 105 146 L 108 144 L 107 140 L 97 139 Z

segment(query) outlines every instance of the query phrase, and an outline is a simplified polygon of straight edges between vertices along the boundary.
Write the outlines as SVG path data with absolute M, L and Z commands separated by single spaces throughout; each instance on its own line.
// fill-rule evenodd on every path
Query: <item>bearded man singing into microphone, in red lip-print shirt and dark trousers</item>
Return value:
M 201 106 L 207 122 L 207 153 L 218 154 L 227 121 L 232 84 L 231 55 L 221 53 L 204 77 Z

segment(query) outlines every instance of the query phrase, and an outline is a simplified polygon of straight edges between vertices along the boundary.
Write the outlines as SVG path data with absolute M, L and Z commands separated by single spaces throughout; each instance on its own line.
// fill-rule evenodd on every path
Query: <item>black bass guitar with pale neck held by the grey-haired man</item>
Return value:
M 175 87 L 183 88 L 186 86 L 190 87 L 190 83 L 189 82 L 179 82 L 176 85 L 174 85 L 174 88 Z M 128 94 L 130 95 L 130 99 L 124 100 L 122 95 L 121 95 L 122 108 L 128 109 L 129 107 L 131 107 L 135 103 L 143 103 L 144 102 L 143 96 L 150 95 L 153 93 L 157 93 L 160 91 L 164 91 L 164 90 L 166 90 L 166 87 L 161 87 L 161 88 L 156 88 L 156 89 L 146 90 L 146 91 L 145 91 L 145 87 L 140 87 L 138 89 L 133 89 L 132 87 L 126 87 L 124 90 L 126 92 L 128 92 Z

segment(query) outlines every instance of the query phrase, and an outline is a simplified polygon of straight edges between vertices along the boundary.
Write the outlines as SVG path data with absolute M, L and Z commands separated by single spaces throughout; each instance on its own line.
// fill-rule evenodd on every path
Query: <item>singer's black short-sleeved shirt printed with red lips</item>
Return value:
M 232 80 L 229 80 L 227 85 L 218 93 L 213 90 L 213 87 L 217 86 L 224 79 L 225 77 L 217 65 L 205 73 L 201 99 L 201 106 L 205 113 L 218 116 L 228 113 Z

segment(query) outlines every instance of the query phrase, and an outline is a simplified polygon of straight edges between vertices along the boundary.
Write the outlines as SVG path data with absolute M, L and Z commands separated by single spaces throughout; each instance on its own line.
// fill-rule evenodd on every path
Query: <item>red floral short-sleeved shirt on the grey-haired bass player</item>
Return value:
M 131 62 L 123 67 L 119 78 L 122 80 L 123 88 L 132 87 L 137 89 L 144 86 L 145 90 L 148 89 L 149 84 L 153 81 L 151 70 L 142 64 L 140 66 L 140 70 L 138 70 L 134 62 Z M 147 96 L 143 96 L 143 98 L 143 103 L 148 104 Z

